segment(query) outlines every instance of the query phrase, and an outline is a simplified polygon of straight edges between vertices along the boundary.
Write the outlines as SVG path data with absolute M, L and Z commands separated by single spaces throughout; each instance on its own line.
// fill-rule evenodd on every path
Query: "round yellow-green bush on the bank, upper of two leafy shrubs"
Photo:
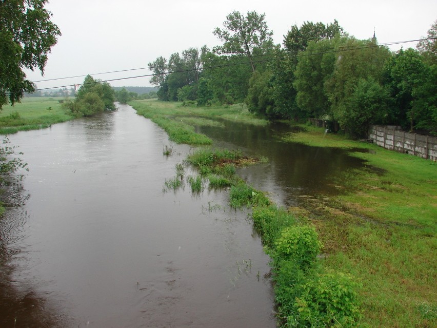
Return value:
M 314 262 L 322 248 L 315 229 L 299 225 L 284 228 L 274 245 L 276 255 L 283 259 L 293 259 L 303 268 Z

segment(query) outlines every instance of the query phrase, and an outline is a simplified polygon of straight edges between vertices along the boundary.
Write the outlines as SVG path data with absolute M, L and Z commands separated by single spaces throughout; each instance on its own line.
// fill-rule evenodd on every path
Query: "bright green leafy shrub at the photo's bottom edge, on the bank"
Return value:
M 320 274 L 302 284 L 302 294 L 294 302 L 296 326 L 356 326 L 361 317 L 360 287 L 341 272 Z

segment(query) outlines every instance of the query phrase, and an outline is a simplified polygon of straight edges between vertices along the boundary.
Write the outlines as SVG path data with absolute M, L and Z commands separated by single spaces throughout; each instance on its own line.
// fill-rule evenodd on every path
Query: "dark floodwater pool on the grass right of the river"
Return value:
M 253 187 L 268 191 L 281 206 L 298 206 L 306 197 L 336 195 L 343 173 L 363 167 L 363 160 L 348 155 L 348 150 L 286 143 L 281 136 L 292 131 L 284 123 L 253 126 L 223 121 L 225 128 L 198 127 L 214 140 L 214 145 L 238 148 L 268 163 L 243 167 L 237 174 Z M 350 150 L 349 150 L 350 151 Z

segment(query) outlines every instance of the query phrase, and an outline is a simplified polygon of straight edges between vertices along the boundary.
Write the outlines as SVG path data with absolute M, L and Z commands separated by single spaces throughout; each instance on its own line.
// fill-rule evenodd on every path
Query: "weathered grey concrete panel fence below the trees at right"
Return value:
M 369 139 L 381 147 L 437 161 L 437 138 L 371 125 Z

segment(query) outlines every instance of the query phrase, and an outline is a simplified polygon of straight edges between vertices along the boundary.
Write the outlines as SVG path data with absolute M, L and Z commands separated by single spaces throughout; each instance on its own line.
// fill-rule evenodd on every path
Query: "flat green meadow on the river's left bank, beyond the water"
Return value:
M 3 106 L 0 112 L 0 134 L 35 130 L 72 119 L 61 108 L 62 98 L 27 97 L 14 106 Z

